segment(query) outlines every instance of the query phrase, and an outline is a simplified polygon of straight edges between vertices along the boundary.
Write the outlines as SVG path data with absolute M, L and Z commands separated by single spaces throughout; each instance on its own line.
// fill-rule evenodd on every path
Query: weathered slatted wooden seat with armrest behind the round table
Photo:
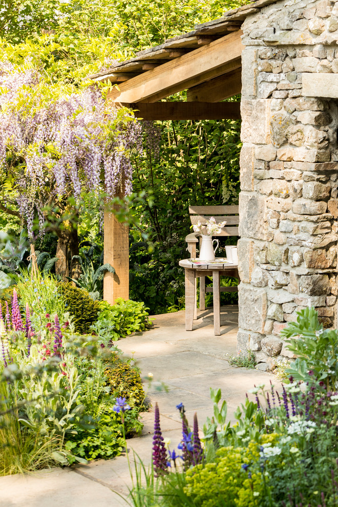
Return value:
M 239 224 L 239 206 L 189 206 L 189 215 L 192 225 L 197 225 L 201 222 L 202 225 L 206 224 L 211 217 L 215 217 L 216 222 L 226 221 L 225 226 L 222 228 L 220 234 L 214 235 L 219 236 L 238 236 L 238 224 Z M 190 258 L 196 258 L 196 244 L 200 241 L 199 233 L 188 234 L 185 238 L 188 244 L 188 251 Z M 235 277 L 239 279 L 238 269 L 233 266 L 229 266 L 227 270 L 229 277 Z M 199 276 L 200 279 L 200 310 L 205 310 L 205 292 L 213 292 L 213 286 L 205 286 L 205 277 Z M 220 287 L 221 292 L 237 292 L 237 287 Z

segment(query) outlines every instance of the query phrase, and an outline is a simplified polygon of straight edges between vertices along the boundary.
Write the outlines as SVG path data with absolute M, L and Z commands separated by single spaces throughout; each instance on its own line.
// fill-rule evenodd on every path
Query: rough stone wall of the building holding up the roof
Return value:
M 338 1 L 276 2 L 242 30 L 238 349 L 265 370 L 299 309 L 336 325 L 338 108 L 302 75 L 338 73 Z

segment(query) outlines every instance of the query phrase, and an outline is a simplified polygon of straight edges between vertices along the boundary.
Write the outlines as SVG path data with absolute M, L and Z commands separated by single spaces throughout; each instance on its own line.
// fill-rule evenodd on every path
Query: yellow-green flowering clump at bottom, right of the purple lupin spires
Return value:
M 261 443 L 272 443 L 276 436 L 262 435 Z M 222 447 L 217 451 L 214 463 L 199 464 L 189 469 L 186 472 L 185 494 L 198 507 L 256 507 L 264 487 L 257 466 L 261 443 L 251 441 L 246 448 Z M 249 466 L 247 472 L 242 464 Z

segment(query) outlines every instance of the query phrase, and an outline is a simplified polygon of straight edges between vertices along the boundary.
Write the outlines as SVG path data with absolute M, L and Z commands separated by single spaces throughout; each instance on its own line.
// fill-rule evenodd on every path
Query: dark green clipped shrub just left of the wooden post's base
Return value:
M 60 283 L 59 292 L 65 299 L 66 310 L 73 315 L 75 331 L 81 334 L 90 333 L 90 326 L 97 320 L 99 306 L 84 289 L 73 287 L 69 283 Z

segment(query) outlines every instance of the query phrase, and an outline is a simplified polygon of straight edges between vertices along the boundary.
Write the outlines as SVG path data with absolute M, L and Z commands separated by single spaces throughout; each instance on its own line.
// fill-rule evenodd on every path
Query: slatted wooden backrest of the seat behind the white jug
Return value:
M 202 225 L 211 217 L 216 222 L 226 221 L 220 234 L 214 236 L 238 236 L 239 206 L 189 206 L 189 215 L 193 225 L 200 221 Z

